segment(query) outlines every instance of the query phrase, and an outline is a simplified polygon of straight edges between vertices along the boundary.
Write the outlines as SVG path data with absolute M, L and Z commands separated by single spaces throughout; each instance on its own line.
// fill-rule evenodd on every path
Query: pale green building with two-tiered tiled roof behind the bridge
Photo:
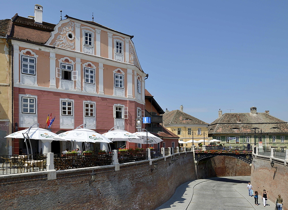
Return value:
M 221 140 L 224 145 L 257 145 L 285 150 L 288 146 L 288 124 L 269 114 L 257 112 L 251 107 L 249 113 L 224 113 L 208 127 L 209 140 Z

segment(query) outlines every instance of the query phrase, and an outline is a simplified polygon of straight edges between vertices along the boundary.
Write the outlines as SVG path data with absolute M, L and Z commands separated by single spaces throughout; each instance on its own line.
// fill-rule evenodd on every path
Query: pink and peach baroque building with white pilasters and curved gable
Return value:
M 48 114 L 55 117 L 52 132 L 57 134 L 81 124 L 99 133 L 114 126 L 137 131 L 137 112 L 145 110 L 146 73 L 139 64 L 133 36 L 67 15 L 58 24 L 44 22 L 41 5 L 35 5 L 34 12 L 34 17 L 16 13 L 0 20 L 0 74 L 6 79 L 0 88 L 7 89 L 5 97 L 9 98 L 1 104 L 13 114 L 1 112 L 0 121 L 5 119 L 11 125 L 1 141 L 6 141 L 3 136 L 7 133 L 34 123 L 45 128 Z M 9 54 L 13 54 L 11 62 Z M 10 86 L 9 78 L 13 78 Z M 54 153 L 70 148 L 66 142 L 51 143 Z M 32 144 L 34 151 L 41 151 L 41 143 Z M 136 146 L 129 142 L 111 146 L 125 144 Z M 14 140 L 12 147 L 14 151 L 7 153 L 17 154 L 23 148 L 22 140 Z

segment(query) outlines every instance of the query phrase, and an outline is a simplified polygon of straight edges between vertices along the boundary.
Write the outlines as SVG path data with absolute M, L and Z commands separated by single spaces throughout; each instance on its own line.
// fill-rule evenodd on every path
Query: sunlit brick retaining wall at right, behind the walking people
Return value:
M 253 159 L 251 168 L 251 184 L 254 191 L 258 191 L 262 196 L 263 190 L 266 190 L 268 199 L 272 202 L 276 200 L 278 194 L 283 198 L 283 210 L 288 209 L 288 167 L 284 161 L 273 159 L 274 167 L 271 167 L 270 157 L 260 157 Z M 261 202 L 261 197 L 260 201 Z M 261 202 L 261 204 L 263 204 Z

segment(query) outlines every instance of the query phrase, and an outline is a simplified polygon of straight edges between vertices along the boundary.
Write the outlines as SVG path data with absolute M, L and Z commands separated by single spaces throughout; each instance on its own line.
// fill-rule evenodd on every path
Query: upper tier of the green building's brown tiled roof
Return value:
M 266 112 L 249 113 L 225 113 L 210 125 L 217 123 L 287 123 Z

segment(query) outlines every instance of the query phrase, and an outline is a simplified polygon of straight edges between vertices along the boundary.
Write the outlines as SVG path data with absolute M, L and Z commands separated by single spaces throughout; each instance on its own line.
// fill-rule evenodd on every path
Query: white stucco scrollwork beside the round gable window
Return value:
M 67 38 L 67 34 L 70 32 L 72 32 L 74 30 L 74 22 L 69 21 L 67 23 L 67 26 L 63 26 L 60 28 L 60 30 L 58 31 L 58 33 L 60 33 L 60 35 L 58 35 L 58 37 L 56 38 L 56 41 L 54 42 L 53 46 L 56 47 L 61 47 L 64 49 L 74 49 L 74 42 L 70 41 Z

